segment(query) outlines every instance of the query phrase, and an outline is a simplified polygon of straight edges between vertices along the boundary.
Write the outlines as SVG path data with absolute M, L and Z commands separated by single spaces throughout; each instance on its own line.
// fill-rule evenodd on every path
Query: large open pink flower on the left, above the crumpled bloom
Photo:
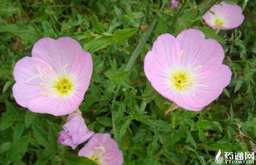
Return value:
M 15 101 L 36 113 L 72 113 L 90 84 L 92 59 L 69 37 L 43 38 L 14 68 Z

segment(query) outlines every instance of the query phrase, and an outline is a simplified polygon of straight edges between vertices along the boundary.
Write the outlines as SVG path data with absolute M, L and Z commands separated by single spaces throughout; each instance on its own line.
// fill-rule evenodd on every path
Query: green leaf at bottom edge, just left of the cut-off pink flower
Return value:
M 97 165 L 94 161 L 82 156 L 66 156 L 65 165 Z

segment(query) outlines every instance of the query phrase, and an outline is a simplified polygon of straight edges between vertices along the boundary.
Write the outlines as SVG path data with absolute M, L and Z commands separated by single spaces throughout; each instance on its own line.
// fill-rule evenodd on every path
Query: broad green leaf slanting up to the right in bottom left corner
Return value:
M 23 138 L 19 138 L 18 141 L 11 144 L 10 149 L 6 153 L 7 164 L 15 163 L 23 158 L 29 141 L 29 136 L 23 136 Z

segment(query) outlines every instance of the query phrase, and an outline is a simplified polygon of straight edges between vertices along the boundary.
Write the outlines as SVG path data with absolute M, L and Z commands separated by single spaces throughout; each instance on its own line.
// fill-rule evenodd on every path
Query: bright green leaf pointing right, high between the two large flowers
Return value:
M 136 28 L 117 29 L 114 31 L 113 35 L 115 36 L 115 41 L 121 43 L 135 35 L 136 31 Z

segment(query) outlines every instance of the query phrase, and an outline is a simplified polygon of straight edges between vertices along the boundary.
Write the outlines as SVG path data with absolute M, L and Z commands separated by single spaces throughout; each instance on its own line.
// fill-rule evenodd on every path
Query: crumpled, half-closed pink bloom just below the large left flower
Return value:
M 58 142 L 64 146 L 71 146 L 72 149 L 75 149 L 82 142 L 86 142 L 94 134 L 88 130 L 79 110 L 69 114 L 67 122 L 62 128 L 64 130 L 59 132 Z

